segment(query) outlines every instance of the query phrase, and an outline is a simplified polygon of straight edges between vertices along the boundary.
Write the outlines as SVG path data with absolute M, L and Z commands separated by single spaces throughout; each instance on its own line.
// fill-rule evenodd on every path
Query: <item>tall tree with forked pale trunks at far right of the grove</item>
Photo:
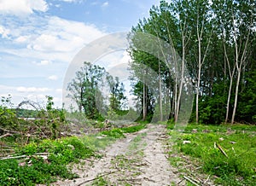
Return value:
M 245 71 L 252 55 L 252 46 L 255 42 L 255 1 L 222 1 L 215 0 L 214 12 L 218 17 L 218 23 L 222 27 L 221 34 L 224 40 L 224 55 L 227 61 L 230 75 L 230 89 L 227 100 L 225 122 L 228 121 L 230 112 L 230 98 L 233 80 L 236 78 L 236 90 L 234 96 L 231 123 L 235 122 L 236 108 L 238 104 L 239 87 L 242 71 Z M 227 49 L 229 53 L 227 52 Z M 234 61 L 234 62 L 231 62 Z

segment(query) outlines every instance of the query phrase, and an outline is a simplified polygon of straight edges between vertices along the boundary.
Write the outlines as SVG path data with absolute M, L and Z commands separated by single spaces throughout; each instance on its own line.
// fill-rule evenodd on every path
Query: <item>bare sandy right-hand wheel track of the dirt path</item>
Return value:
M 142 185 L 170 185 L 179 183 L 178 175 L 173 173 L 177 170 L 170 166 L 166 159 L 163 141 L 165 136 L 165 125 L 148 125 L 147 137 L 144 141 L 147 146 L 144 148 L 144 161 L 148 166 L 143 167 L 145 172 L 139 177 L 143 177 Z

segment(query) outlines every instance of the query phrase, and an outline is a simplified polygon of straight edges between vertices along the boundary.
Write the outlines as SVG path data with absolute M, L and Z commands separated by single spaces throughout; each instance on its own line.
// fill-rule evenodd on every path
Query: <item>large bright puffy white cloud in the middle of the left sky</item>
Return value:
M 46 29 L 34 36 L 28 49 L 40 52 L 74 52 L 93 39 L 102 37 L 104 32 L 93 25 L 82 22 L 49 17 Z

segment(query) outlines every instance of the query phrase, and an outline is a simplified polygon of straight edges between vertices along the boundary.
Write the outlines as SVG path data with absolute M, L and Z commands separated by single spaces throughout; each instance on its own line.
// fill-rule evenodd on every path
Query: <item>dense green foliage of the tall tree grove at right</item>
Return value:
M 131 28 L 129 35 L 131 39 L 129 52 L 133 60 L 131 63 L 131 85 L 132 93 L 137 97 L 137 108 L 143 108 L 143 96 L 145 96 L 143 95 L 143 84 L 146 84 L 148 115 L 153 112 L 155 115 L 159 115 L 156 106 L 159 100 L 158 89 L 149 90 L 151 87 L 148 86 L 148 82 L 143 81 L 142 77 L 144 76 L 150 78 L 144 70 L 145 66 L 159 73 L 163 85 L 168 90 L 167 92 L 162 90 L 161 93 L 170 95 L 172 113 L 169 115 L 171 117 L 177 112 L 178 95 L 175 89 L 180 87 L 180 82 L 177 79 L 181 78 L 178 68 L 171 65 L 172 61 L 175 61 L 174 57 L 169 64 L 172 69 L 169 69 L 162 62 L 166 59 L 159 63 L 156 55 L 142 51 L 145 47 L 148 50 L 160 48 L 158 44 L 151 41 L 143 42 L 143 39 L 133 37 L 137 35 L 137 32 L 143 32 L 170 44 L 180 56 L 180 60 L 185 60 L 190 77 L 199 86 L 195 87 L 199 90 L 197 105 L 199 123 L 218 125 L 224 122 L 227 113 L 228 119 L 231 119 L 233 111 L 236 111 L 234 114 L 236 122 L 254 124 L 256 121 L 256 34 L 253 29 L 256 26 L 256 21 L 254 7 L 254 1 L 219 0 L 211 2 L 197 0 L 167 2 L 161 0 L 158 6 L 153 5 L 149 10 L 149 16 L 139 20 L 137 25 Z M 237 24 L 234 24 L 234 21 L 237 21 Z M 154 46 L 157 47 L 154 48 Z M 162 51 L 164 50 L 162 49 Z M 168 51 L 166 54 L 166 56 L 172 55 L 172 51 Z M 199 61 L 202 62 L 201 65 L 199 65 Z M 180 61 L 175 62 L 181 63 Z M 237 79 L 238 77 L 241 78 Z M 236 84 L 239 84 L 237 86 L 238 94 Z M 194 102 L 194 107 L 195 104 L 197 103 Z M 229 104 L 229 110 L 227 110 L 227 104 Z M 191 121 L 195 121 L 195 109 Z

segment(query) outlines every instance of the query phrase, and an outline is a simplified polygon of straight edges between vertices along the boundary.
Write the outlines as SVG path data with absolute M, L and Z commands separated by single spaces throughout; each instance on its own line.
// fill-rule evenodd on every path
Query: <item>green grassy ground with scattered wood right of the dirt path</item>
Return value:
M 184 175 L 191 173 L 183 169 L 187 161 L 215 183 L 256 185 L 256 126 L 188 125 L 183 133 L 170 130 L 169 135 L 174 140 L 170 161 Z

